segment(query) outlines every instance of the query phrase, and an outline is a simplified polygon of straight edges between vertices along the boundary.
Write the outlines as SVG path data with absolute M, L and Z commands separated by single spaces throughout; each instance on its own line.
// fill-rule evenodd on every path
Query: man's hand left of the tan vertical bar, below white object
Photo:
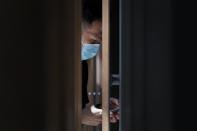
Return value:
M 89 126 L 98 126 L 102 122 L 102 114 L 101 113 L 92 113 L 91 107 L 87 105 L 82 110 L 82 124 Z

